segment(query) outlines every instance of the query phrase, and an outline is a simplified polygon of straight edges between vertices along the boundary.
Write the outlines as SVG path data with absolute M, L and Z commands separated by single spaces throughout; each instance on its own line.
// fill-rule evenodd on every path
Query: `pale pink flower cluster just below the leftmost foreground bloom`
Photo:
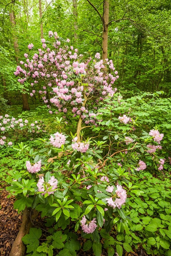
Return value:
M 45 183 L 44 182 L 44 178 L 41 177 L 37 183 L 37 187 L 38 187 L 38 191 L 39 192 L 43 192 L 42 195 L 44 195 L 45 193 L 48 193 L 48 195 L 50 194 L 54 194 L 56 188 L 57 188 L 57 184 L 58 184 L 58 181 L 57 179 L 55 179 L 54 176 L 51 176 L 51 179 Z M 48 191 L 48 189 L 51 188 L 51 190 Z

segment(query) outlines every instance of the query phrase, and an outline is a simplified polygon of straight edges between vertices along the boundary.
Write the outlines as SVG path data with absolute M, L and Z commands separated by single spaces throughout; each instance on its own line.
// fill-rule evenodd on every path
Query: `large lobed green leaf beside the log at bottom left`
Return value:
M 42 235 L 42 230 L 39 228 L 30 228 L 30 233 L 22 238 L 24 244 L 27 244 L 27 253 L 35 251 L 39 246 L 39 238 Z

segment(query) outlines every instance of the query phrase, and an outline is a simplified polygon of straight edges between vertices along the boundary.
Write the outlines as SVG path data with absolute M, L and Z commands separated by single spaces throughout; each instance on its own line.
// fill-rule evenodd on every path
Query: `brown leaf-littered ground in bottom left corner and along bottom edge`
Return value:
M 5 188 L 0 189 L 0 255 L 9 256 L 12 248 L 12 244 L 15 241 L 15 238 L 18 234 L 20 225 L 22 223 L 22 214 L 18 214 L 17 210 L 13 209 L 13 204 L 15 201 L 15 197 L 8 198 L 9 192 L 5 190 Z M 36 219 L 37 225 L 40 227 L 41 217 Z M 42 225 L 41 225 L 42 226 Z M 40 227 L 41 228 L 41 227 Z M 46 229 L 44 226 L 43 229 Z M 77 235 L 79 235 L 79 230 L 77 231 Z M 81 242 L 81 236 L 79 240 Z M 77 256 L 92 256 L 94 255 L 91 251 L 83 252 L 82 249 L 77 252 Z M 102 251 L 101 256 L 107 256 L 108 253 Z M 124 253 L 124 256 L 147 256 L 142 247 L 139 247 L 136 252 L 132 253 Z

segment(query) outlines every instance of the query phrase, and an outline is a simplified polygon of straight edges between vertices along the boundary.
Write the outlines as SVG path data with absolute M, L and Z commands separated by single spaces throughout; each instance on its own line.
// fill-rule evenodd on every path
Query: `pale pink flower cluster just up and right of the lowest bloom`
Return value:
M 111 206 L 113 209 L 115 209 L 116 207 L 120 209 L 126 201 L 127 194 L 126 194 L 126 190 L 123 189 L 122 186 L 117 185 L 116 187 L 117 187 L 117 189 L 115 190 L 116 194 L 114 194 L 113 193 L 114 187 L 108 186 L 106 191 L 112 193 L 112 197 L 106 198 L 106 201 L 108 202 L 108 206 Z M 113 201 L 113 198 L 115 199 L 114 201 Z

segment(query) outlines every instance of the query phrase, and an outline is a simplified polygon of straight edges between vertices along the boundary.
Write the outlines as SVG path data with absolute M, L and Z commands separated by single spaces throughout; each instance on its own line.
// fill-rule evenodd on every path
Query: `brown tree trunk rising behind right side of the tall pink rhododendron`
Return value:
M 104 0 L 103 2 L 103 40 L 102 40 L 102 59 L 108 58 L 108 23 L 109 23 L 109 0 Z

